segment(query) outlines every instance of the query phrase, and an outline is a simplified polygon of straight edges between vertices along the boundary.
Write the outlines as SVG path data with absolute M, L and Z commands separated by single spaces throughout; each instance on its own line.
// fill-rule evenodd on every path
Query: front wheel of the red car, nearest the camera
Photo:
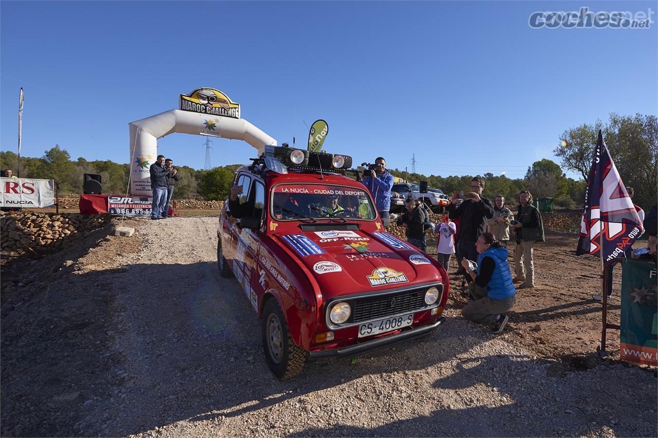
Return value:
M 263 353 L 265 362 L 278 379 L 297 376 L 304 368 L 308 353 L 295 345 L 288 324 L 276 299 L 269 299 L 263 309 Z

